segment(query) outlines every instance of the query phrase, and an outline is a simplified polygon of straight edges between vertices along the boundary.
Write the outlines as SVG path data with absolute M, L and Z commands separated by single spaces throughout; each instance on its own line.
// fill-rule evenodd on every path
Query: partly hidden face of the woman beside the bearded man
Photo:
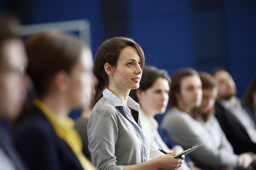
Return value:
M 206 114 L 212 109 L 218 94 L 217 88 L 203 88 L 202 103 L 200 106 L 200 113 Z

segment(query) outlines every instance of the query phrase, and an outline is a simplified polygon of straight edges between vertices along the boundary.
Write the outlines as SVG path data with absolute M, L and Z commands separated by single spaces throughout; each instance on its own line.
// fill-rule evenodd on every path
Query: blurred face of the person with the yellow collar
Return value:
M 90 102 L 92 86 L 96 83 L 92 65 L 92 52 L 89 49 L 82 50 L 69 80 L 68 96 L 72 108 L 81 108 Z

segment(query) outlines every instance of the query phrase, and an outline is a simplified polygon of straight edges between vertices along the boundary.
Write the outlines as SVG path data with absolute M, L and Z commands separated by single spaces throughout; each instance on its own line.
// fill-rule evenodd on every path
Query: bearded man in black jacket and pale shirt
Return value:
M 216 118 L 235 154 L 256 153 L 256 124 L 236 97 L 236 84 L 232 76 L 224 69 L 215 69 L 212 75 L 218 84 Z

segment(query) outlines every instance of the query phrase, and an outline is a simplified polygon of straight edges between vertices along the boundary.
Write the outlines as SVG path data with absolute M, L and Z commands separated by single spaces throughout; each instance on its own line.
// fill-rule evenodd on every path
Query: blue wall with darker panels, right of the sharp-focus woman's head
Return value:
M 256 74 L 256 1 L 195 3 L 128 1 L 129 36 L 170 74 L 187 66 L 198 71 L 225 67 L 242 97 Z

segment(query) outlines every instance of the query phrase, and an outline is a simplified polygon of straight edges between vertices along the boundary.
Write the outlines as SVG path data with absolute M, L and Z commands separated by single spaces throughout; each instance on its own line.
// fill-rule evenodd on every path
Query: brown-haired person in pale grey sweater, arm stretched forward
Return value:
M 217 143 L 220 141 L 214 141 L 212 134 L 192 117 L 201 105 L 202 94 L 202 83 L 196 70 L 176 71 L 172 75 L 171 109 L 163 118 L 162 128 L 166 129 L 172 139 L 184 148 L 202 143 L 199 148 L 189 154 L 199 168 L 208 170 L 247 168 L 252 162 L 249 154 L 234 155 L 232 147 L 226 148 L 230 151 L 222 150 L 220 143 Z

